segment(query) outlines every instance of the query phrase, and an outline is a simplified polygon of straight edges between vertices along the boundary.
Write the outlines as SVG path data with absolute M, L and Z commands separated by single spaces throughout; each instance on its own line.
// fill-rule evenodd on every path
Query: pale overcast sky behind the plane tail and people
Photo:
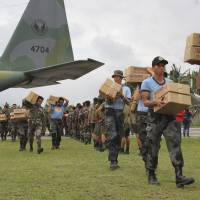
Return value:
M 28 1 L 0 0 L 0 55 L 3 53 Z M 34 88 L 45 98 L 65 96 L 71 103 L 98 95 L 103 81 L 114 69 L 150 66 L 155 56 L 170 65 L 183 63 L 186 37 L 200 32 L 200 0 L 65 0 L 75 59 L 93 58 L 105 65 L 76 81 Z M 8 89 L 0 93 L 5 101 L 20 103 L 30 90 Z

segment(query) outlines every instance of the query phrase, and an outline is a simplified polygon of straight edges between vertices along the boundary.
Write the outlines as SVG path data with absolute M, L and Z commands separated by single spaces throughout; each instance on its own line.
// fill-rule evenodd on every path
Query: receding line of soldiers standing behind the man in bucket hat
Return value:
M 81 105 L 78 103 L 75 107 L 69 106 L 65 114 L 65 134 L 84 144 L 91 144 L 98 151 L 105 151 L 108 148 L 108 134 L 105 127 L 105 99 L 99 96 L 94 98 L 93 102 L 85 101 Z M 135 122 L 134 113 L 130 112 L 130 107 L 126 106 L 124 111 L 123 127 L 125 135 L 120 143 L 120 153 L 129 154 L 130 131 L 133 130 Z

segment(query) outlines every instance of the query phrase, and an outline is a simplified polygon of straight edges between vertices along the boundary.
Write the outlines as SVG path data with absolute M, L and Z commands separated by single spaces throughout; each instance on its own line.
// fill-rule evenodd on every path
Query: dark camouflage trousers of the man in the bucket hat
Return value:
M 121 138 L 124 136 L 124 115 L 122 110 L 106 108 L 105 128 L 108 134 L 108 160 L 118 162 Z

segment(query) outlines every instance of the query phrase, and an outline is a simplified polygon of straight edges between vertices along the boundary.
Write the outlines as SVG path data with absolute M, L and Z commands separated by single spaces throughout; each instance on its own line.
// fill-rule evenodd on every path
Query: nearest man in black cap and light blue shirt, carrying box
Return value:
M 142 82 L 141 95 L 144 106 L 148 107 L 147 119 L 147 160 L 146 168 L 149 171 L 148 182 L 151 185 L 159 184 L 155 170 L 158 165 L 158 153 L 160 149 L 161 136 L 165 137 L 170 159 L 176 174 L 176 186 L 178 188 L 184 187 L 194 182 L 193 178 L 186 178 L 182 175 L 183 155 L 181 151 L 181 141 L 179 132 L 173 115 L 158 114 L 153 112 L 155 106 L 165 104 L 162 100 L 156 100 L 154 95 L 170 80 L 164 77 L 165 65 L 168 62 L 158 56 L 152 61 L 152 68 L 154 75 Z

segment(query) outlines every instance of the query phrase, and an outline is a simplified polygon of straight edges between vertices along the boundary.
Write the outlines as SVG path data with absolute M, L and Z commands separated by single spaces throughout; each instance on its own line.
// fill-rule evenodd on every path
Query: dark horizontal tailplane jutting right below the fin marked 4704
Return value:
M 77 79 L 102 65 L 104 63 L 88 59 L 27 71 L 24 72 L 24 75 L 28 77 L 29 81 L 16 87 L 32 88 L 59 84 L 57 81 Z

